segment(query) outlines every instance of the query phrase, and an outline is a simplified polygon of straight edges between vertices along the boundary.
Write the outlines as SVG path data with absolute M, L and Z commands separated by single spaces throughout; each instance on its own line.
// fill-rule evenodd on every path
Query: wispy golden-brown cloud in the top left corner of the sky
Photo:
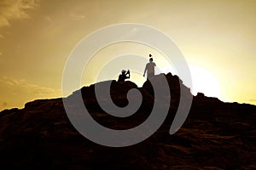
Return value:
M 0 26 L 9 26 L 14 19 L 27 19 L 27 9 L 38 7 L 39 0 L 1 0 Z

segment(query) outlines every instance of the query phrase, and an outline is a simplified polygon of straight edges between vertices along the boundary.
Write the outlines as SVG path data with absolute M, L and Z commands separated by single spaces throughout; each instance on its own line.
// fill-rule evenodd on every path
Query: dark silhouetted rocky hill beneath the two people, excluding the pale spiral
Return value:
M 27 103 L 24 109 L 0 112 L 1 168 L 256 169 L 256 106 L 224 103 L 198 94 L 193 96 L 183 127 L 170 135 L 182 81 L 171 73 L 166 75 L 166 79 L 172 94 L 166 121 L 142 143 L 123 148 L 102 146 L 85 139 L 69 122 L 62 99 L 38 99 Z M 152 81 L 161 83 L 159 76 Z M 98 83 L 104 86 L 105 82 Z M 96 101 L 94 87 L 81 89 L 84 105 L 90 115 L 106 127 L 136 127 L 152 111 L 154 91 L 148 81 L 142 88 L 129 81 L 112 83 L 111 97 L 120 107 L 128 104 L 126 94 L 131 88 L 137 88 L 143 95 L 139 110 L 125 118 L 109 116 L 102 111 Z M 191 97 L 189 88 L 184 85 L 181 88 L 185 97 Z M 78 93 L 74 92 L 69 98 Z M 104 95 L 102 93 L 103 100 Z M 168 97 L 163 94 L 163 99 Z

